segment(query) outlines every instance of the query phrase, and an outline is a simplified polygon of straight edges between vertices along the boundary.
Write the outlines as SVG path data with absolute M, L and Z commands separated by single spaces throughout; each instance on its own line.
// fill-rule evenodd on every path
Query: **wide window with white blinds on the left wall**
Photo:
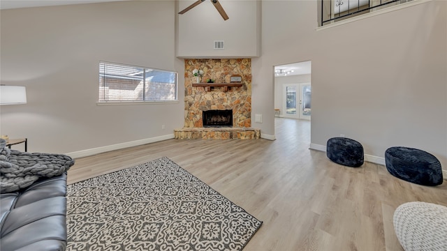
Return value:
M 177 100 L 177 73 L 100 62 L 98 100 L 99 102 Z

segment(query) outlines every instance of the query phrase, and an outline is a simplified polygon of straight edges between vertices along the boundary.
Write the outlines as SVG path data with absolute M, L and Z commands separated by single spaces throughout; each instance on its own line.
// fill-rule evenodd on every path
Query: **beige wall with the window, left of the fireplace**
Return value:
M 176 70 L 179 102 L 97 106 L 99 61 Z M 173 137 L 184 122 L 183 72 L 174 1 L 1 10 L 1 84 L 26 86 L 28 97 L 26 105 L 1 106 L 1 134 L 27 137 L 29 151 Z

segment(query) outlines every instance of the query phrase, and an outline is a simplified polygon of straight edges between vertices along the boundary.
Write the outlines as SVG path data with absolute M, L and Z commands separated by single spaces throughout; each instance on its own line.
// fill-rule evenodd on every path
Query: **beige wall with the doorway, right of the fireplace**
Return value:
M 252 105 L 263 123 L 254 128 L 274 134 L 273 66 L 311 60 L 312 144 L 344 134 L 379 158 L 390 146 L 416 147 L 446 169 L 447 2 L 319 31 L 316 1 L 262 3 Z

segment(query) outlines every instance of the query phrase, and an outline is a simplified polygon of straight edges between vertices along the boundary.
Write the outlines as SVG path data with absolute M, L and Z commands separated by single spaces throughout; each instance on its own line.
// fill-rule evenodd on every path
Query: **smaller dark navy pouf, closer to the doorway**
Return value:
M 326 155 L 330 160 L 348 167 L 363 165 L 363 146 L 353 139 L 333 137 L 326 144 Z

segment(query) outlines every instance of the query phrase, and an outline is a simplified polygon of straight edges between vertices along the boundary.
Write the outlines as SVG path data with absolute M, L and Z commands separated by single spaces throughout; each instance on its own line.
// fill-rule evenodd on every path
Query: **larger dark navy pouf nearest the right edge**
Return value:
M 442 169 L 434 155 L 419 149 L 393 146 L 385 151 L 386 169 L 404 181 L 419 185 L 441 185 Z

